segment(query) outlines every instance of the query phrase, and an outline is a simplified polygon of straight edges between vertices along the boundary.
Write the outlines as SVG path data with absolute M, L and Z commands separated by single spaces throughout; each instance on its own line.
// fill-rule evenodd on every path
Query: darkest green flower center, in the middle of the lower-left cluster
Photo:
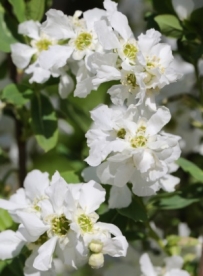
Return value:
M 52 231 L 57 236 L 65 236 L 70 229 L 70 221 L 64 216 L 52 219 Z

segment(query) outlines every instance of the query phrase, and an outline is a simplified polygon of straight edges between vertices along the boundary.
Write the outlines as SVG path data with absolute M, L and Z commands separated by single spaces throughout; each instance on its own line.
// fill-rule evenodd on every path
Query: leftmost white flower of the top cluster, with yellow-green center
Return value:
M 51 76 L 61 75 L 59 94 L 62 98 L 67 96 L 64 88 L 73 89 L 73 82 L 67 77 L 64 70 L 60 71 L 72 54 L 72 48 L 67 45 L 59 45 L 59 41 L 43 31 L 39 22 L 29 20 L 19 25 L 20 34 L 30 39 L 29 45 L 15 43 L 11 45 L 11 56 L 14 64 L 25 69 L 25 73 L 32 74 L 29 82 L 44 83 Z M 66 76 L 66 77 L 65 77 Z

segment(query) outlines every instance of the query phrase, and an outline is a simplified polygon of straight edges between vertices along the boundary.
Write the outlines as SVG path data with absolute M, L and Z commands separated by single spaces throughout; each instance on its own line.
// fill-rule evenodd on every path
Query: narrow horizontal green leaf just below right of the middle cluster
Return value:
M 183 198 L 179 195 L 172 195 L 170 197 L 162 198 L 158 202 L 158 207 L 165 210 L 181 209 L 187 207 L 200 199 L 196 198 Z

